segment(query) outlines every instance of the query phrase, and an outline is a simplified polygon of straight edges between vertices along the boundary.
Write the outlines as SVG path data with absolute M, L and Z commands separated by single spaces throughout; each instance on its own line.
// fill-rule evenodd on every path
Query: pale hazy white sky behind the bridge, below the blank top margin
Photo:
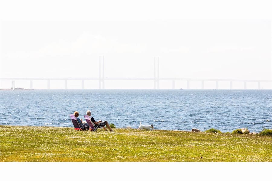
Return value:
M 154 78 L 156 57 L 160 78 L 272 79 L 271 19 L 58 19 L 54 15 L 59 17 L 59 12 L 40 19 L 17 14 L 1 20 L 0 78 L 97 78 L 99 56 L 104 56 L 108 78 Z M 11 87 L 11 81 L 0 83 L 1 88 Z M 15 83 L 29 85 L 29 81 Z M 186 86 L 186 81 L 175 82 L 176 89 Z M 233 83 L 233 88 L 243 86 Z M 47 82 L 34 81 L 33 87 L 46 89 Z M 97 89 L 99 83 L 85 81 L 84 87 Z M 153 81 L 105 81 L 106 89 L 153 87 Z M 272 84 L 261 87 L 271 89 Z M 62 89 L 64 81 L 51 81 L 50 88 Z M 68 88 L 81 89 L 81 81 L 69 81 Z M 160 81 L 160 88 L 171 89 L 172 81 Z M 190 88 L 201 88 L 201 82 L 191 81 Z M 215 88 L 215 82 L 205 82 L 205 88 Z M 229 88 L 229 82 L 219 82 L 219 88 Z M 247 88 L 257 88 L 257 83 L 248 82 Z

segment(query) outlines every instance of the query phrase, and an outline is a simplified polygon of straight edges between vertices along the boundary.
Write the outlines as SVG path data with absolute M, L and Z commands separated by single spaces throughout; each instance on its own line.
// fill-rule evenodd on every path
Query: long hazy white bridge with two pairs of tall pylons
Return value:
M 102 66 L 101 66 L 102 62 Z M 156 66 L 157 64 L 157 66 Z M 157 67 L 157 71 L 156 71 Z M 104 56 L 99 56 L 99 77 L 89 78 L 0 78 L 0 81 L 11 81 L 12 85 L 15 86 L 15 81 L 30 81 L 30 89 L 33 89 L 34 80 L 47 80 L 47 89 L 50 89 L 51 80 L 63 80 L 64 89 L 67 89 L 68 80 L 81 80 L 81 88 L 84 89 L 85 80 L 97 80 L 99 84 L 99 89 L 105 89 L 105 80 L 153 80 L 154 89 L 160 89 L 160 81 L 171 81 L 172 89 L 175 89 L 176 81 L 187 81 L 186 89 L 190 89 L 190 81 L 201 81 L 201 88 L 204 89 L 205 81 L 214 81 L 215 89 L 219 89 L 219 81 L 229 82 L 229 89 L 232 89 L 233 82 L 243 82 L 244 89 L 247 89 L 247 82 L 256 82 L 258 89 L 261 89 L 261 83 L 270 82 L 271 80 L 242 80 L 242 79 L 206 79 L 206 78 L 160 78 L 159 77 L 159 57 L 154 57 L 154 77 L 153 78 L 123 78 L 123 77 L 105 77 L 104 76 Z

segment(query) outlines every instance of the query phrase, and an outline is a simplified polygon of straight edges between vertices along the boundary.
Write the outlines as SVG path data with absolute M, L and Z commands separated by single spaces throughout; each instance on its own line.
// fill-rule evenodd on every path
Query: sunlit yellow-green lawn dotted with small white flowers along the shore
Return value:
M 271 162 L 272 137 L 0 125 L 1 162 Z

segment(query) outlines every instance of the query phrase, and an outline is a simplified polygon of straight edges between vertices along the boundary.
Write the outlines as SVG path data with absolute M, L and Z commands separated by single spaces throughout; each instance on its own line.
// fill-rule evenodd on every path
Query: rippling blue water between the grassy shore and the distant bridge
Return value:
M 222 132 L 272 128 L 272 90 L 15 90 L 0 91 L 0 125 L 73 127 L 91 110 L 117 128 Z M 267 121 L 270 120 L 270 121 Z

